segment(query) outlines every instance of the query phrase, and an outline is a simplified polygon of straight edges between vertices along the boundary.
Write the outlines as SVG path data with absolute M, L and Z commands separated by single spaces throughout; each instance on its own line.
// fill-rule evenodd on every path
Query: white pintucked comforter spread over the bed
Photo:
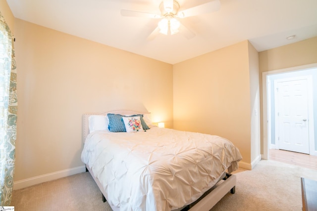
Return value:
M 102 183 L 110 206 L 169 211 L 196 201 L 242 157 L 219 136 L 152 127 L 90 133 L 81 159 Z

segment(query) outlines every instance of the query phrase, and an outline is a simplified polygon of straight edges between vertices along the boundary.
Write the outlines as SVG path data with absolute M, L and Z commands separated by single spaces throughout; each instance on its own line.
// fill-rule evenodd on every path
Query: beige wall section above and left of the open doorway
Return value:
M 260 99 L 261 120 L 263 119 L 262 73 L 284 68 L 317 63 L 317 37 L 272 48 L 259 53 L 260 58 Z M 263 124 L 261 127 L 261 153 L 264 143 Z

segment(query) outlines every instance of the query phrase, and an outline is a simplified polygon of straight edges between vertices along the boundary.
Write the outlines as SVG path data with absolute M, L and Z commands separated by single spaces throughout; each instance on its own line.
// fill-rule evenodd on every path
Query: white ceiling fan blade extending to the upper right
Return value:
M 194 6 L 177 13 L 177 17 L 186 18 L 190 16 L 200 15 L 204 13 L 214 12 L 220 9 L 219 0 L 211 0 L 210 2 Z

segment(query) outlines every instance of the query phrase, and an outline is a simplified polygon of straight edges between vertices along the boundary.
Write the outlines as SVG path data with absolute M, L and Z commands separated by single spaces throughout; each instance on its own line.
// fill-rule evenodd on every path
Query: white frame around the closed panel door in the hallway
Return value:
M 298 76 L 298 77 L 287 77 L 287 78 L 283 78 L 283 79 L 277 79 L 277 80 L 274 80 L 273 83 L 274 83 L 274 96 L 271 96 L 271 97 L 274 97 L 276 99 L 276 92 L 275 92 L 275 82 L 276 81 L 286 81 L 286 80 L 303 80 L 303 79 L 306 79 L 307 80 L 307 113 L 308 113 L 308 147 L 309 147 L 309 154 L 311 154 L 311 152 L 314 152 L 315 151 L 315 139 L 314 139 L 314 113 L 313 113 L 313 110 L 314 110 L 314 107 L 313 107 L 313 79 L 312 79 L 312 76 Z M 274 100 L 274 108 L 276 108 L 277 106 L 277 101 Z M 267 104 L 267 105 L 270 105 L 270 104 Z M 279 132 L 276 132 L 277 129 L 277 125 L 278 125 L 278 117 L 276 115 L 276 109 L 274 109 L 275 111 L 275 149 L 279 149 L 279 140 L 278 140 L 278 135 L 279 135 Z M 267 113 L 269 115 L 269 113 Z M 313 130 L 313 131 L 312 131 Z

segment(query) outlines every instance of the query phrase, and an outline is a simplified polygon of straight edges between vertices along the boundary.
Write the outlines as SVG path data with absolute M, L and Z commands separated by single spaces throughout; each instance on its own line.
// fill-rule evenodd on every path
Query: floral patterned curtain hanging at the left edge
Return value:
M 9 206 L 13 188 L 17 120 L 13 35 L 0 12 L 0 206 Z

